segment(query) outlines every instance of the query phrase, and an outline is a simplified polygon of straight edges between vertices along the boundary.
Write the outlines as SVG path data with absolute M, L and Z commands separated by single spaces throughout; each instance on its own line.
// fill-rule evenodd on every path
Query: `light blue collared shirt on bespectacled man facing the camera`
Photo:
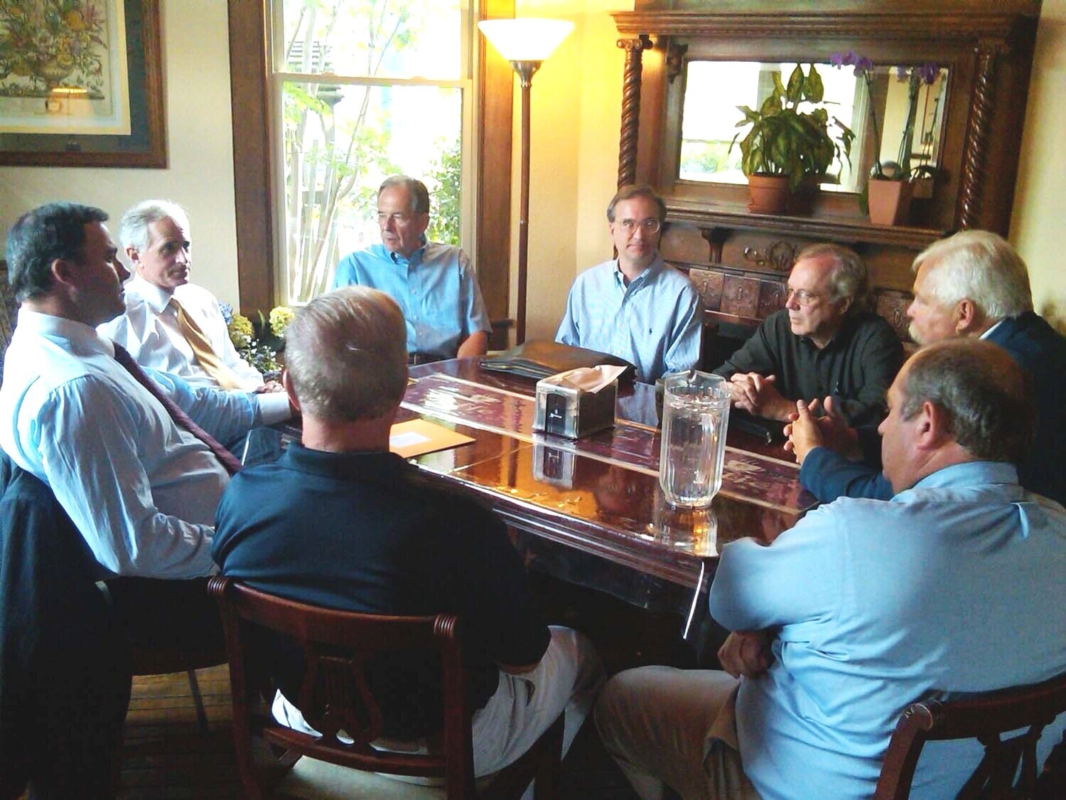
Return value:
M 702 316 L 692 282 L 661 256 L 628 286 L 618 261 L 604 261 L 574 282 L 555 341 L 617 355 L 655 383 L 699 363 Z

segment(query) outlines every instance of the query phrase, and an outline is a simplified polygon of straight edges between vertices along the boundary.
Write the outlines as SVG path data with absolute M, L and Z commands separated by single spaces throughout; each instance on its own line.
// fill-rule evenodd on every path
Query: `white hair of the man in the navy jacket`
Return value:
M 997 322 L 1033 309 L 1025 262 L 990 230 L 963 230 L 933 242 L 918 254 L 914 271 L 922 265 L 930 294 L 942 308 L 970 300 Z

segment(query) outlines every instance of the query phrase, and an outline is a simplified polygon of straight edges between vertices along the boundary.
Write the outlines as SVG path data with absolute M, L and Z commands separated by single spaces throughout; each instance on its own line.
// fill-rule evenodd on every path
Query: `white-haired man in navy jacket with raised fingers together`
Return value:
M 1033 381 L 1036 443 L 1019 465 L 1019 478 L 1030 491 L 1066 503 L 1066 337 L 1033 311 L 1024 261 L 1002 237 L 964 230 L 926 247 L 915 259 L 914 272 L 915 299 L 907 316 L 916 341 L 986 339 L 1006 350 Z M 802 465 L 800 480 L 823 502 L 840 496 L 892 496 L 877 468 L 849 461 L 826 446 L 823 434 L 830 444 L 833 438 L 853 438 L 847 432 L 840 435 L 839 420 L 805 416 L 792 423 L 790 433 L 790 447 Z

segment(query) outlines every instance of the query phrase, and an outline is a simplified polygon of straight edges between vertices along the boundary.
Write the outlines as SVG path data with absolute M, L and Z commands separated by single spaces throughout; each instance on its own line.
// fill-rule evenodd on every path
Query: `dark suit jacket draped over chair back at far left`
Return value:
M 0 451 L 0 797 L 113 795 L 129 645 L 52 491 Z

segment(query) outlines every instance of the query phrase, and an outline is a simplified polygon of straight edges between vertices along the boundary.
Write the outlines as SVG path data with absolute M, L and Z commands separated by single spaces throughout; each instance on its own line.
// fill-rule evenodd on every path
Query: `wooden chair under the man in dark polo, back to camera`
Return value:
M 563 715 L 517 762 L 488 781 L 479 780 L 475 787 L 471 710 L 466 700 L 458 618 L 338 611 L 276 597 L 223 576 L 211 578 L 208 591 L 219 601 L 226 631 L 237 762 L 249 798 L 263 797 L 271 782 L 276 782 L 303 755 L 354 770 L 442 778 L 445 785 L 436 789 L 436 795 L 449 800 L 517 798 L 534 778 L 537 798 L 558 794 Z M 261 668 L 257 668 L 248 647 L 248 638 L 257 628 L 288 636 L 303 649 L 306 677 L 296 705 L 308 723 L 322 732 L 321 738 L 277 723 L 261 702 L 261 684 L 254 679 L 257 672 L 261 674 Z M 395 753 L 371 747 L 370 742 L 382 734 L 383 710 L 368 685 L 364 665 L 385 653 L 439 654 L 443 678 L 443 752 Z M 339 731 L 346 733 L 354 743 L 340 740 Z M 265 740 L 275 753 L 284 754 L 273 762 L 257 764 L 253 737 Z M 377 780 L 394 786 L 397 794 L 404 796 L 429 790 L 400 781 Z

